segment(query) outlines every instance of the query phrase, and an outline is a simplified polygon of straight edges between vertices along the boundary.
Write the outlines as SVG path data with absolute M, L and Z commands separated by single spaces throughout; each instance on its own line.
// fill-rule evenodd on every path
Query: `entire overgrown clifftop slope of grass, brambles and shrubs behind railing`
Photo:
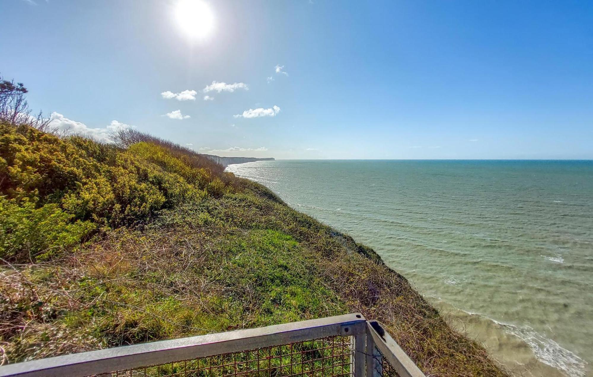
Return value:
M 359 311 L 427 374 L 504 375 L 374 251 L 266 187 L 161 140 L 0 130 L 8 362 Z M 27 242 L 40 223 L 57 235 Z

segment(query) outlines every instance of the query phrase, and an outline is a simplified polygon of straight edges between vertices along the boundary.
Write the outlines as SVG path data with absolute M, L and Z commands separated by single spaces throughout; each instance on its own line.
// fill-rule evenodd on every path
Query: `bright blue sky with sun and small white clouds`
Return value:
M 224 156 L 593 158 L 593 2 L 188 1 L 2 0 L 0 74 L 100 140 L 131 126 Z

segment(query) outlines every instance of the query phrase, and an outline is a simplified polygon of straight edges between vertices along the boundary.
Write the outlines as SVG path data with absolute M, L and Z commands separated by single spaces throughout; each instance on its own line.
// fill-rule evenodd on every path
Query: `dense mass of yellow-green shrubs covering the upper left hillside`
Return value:
M 81 136 L 59 138 L 32 127 L 0 123 L 0 195 L 6 196 L 5 201 L 14 200 L 7 210 L 32 216 L 31 211 L 43 209 L 62 224 L 144 223 L 158 210 L 198 203 L 206 194 L 222 196 L 225 184 L 204 167 L 209 163 L 198 164 L 199 159 L 206 158 L 170 150 L 168 145 L 141 141 L 126 150 Z M 21 212 L 18 207 L 23 207 Z M 12 225 L 6 224 L 9 232 Z M 24 233 L 11 235 L 21 236 Z M 12 246 L 6 255 L 12 256 L 26 254 L 30 247 L 39 253 L 40 247 L 53 245 L 53 241 L 7 242 Z

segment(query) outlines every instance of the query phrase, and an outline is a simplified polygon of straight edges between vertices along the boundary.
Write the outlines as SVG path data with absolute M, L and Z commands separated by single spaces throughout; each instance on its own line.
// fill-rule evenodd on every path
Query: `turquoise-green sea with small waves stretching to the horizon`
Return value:
M 230 165 L 374 248 L 509 368 L 593 375 L 593 161 Z

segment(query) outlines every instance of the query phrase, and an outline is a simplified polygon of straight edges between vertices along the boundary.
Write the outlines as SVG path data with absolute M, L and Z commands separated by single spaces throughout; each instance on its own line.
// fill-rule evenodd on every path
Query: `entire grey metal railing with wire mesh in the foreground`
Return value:
M 424 374 L 362 314 L 155 341 L 0 367 L 0 376 L 409 376 Z

